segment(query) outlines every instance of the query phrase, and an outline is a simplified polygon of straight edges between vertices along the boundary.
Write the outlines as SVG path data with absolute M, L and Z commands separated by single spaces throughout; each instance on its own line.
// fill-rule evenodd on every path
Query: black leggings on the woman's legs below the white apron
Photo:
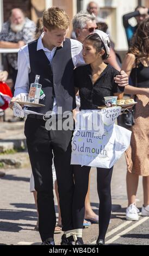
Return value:
M 85 197 L 88 192 L 89 173 L 91 167 L 80 165 L 73 166 L 74 172 L 74 196 L 73 196 L 73 227 L 83 228 L 85 214 Z M 113 167 L 110 169 L 97 168 L 97 192 L 100 199 L 99 207 L 99 235 L 98 238 L 105 238 L 111 215 L 111 191 L 110 182 Z

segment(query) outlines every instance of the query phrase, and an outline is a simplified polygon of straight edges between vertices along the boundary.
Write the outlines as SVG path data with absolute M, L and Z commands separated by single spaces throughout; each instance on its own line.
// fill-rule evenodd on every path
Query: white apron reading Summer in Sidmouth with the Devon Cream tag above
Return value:
M 80 113 L 84 119 L 82 118 L 82 125 L 81 123 L 76 125 L 73 133 L 71 164 L 111 168 L 120 159 L 131 141 L 131 132 L 114 124 L 120 112 L 121 107 L 102 109 L 98 119 L 103 125 L 97 125 L 98 130 L 89 130 L 88 126 L 85 129 L 85 118 L 92 123 L 95 122 L 94 111 Z

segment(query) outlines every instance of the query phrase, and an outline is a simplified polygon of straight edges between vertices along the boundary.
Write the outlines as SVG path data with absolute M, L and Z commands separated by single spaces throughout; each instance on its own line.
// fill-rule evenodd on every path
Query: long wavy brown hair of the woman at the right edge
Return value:
M 138 60 L 149 57 L 149 18 L 140 22 L 131 40 L 128 53 L 133 53 Z

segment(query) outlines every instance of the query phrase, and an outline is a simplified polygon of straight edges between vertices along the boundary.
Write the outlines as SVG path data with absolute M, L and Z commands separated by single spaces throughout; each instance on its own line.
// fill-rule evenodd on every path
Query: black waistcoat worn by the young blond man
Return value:
M 54 97 L 57 106 L 62 107 L 62 111 L 71 111 L 76 108 L 74 95 L 73 69 L 74 65 L 71 56 L 71 41 L 66 39 L 63 47 L 57 47 L 51 64 L 43 50 L 37 51 L 38 40 L 28 44 L 30 74 L 29 84 L 34 83 L 35 75 L 40 75 L 39 83 L 45 93 L 45 99 L 39 101 L 45 107 L 29 107 L 28 109 L 46 113 L 53 109 Z

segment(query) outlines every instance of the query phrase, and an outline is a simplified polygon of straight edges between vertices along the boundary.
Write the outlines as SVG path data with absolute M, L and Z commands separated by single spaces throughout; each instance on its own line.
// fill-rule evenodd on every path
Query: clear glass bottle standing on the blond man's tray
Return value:
M 30 84 L 28 102 L 39 103 L 40 91 L 42 85 L 39 83 L 40 76 L 35 76 L 35 82 Z

